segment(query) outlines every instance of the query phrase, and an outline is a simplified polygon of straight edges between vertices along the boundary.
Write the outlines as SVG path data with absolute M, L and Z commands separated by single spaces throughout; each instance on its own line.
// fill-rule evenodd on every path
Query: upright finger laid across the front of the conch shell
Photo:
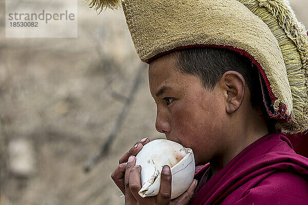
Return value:
M 158 204 L 169 204 L 171 199 L 171 171 L 169 166 L 165 165 L 161 172 L 161 186 L 157 196 Z

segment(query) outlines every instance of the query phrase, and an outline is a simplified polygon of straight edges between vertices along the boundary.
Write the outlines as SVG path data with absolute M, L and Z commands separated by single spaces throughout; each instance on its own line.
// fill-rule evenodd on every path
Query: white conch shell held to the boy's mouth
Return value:
M 195 174 L 192 150 L 167 139 L 156 139 L 144 145 L 136 156 L 136 165 L 141 166 L 139 195 L 142 197 L 158 195 L 164 165 L 171 168 L 171 199 L 188 189 Z

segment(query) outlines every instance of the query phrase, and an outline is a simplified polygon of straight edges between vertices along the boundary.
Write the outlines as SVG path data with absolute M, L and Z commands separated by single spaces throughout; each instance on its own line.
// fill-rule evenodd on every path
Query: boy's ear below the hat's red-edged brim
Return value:
M 245 96 L 245 79 L 236 71 L 227 71 L 220 79 L 220 85 L 225 91 L 226 112 L 232 114 L 242 105 Z

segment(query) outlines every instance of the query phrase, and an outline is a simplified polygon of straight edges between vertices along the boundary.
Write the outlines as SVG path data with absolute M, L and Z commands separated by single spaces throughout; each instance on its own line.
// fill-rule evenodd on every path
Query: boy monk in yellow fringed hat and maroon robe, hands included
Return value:
M 281 134 L 308 129 L 308 37 L 288 2 L 120 2 L 149 64 L 156 128 L 198 166 L 178 198 L 168 166 L 158 196 L 142 198 L 134 156 L 149 139 L 138 141 L 111 174 L 125 204 L 308 204 L 308 159 Z

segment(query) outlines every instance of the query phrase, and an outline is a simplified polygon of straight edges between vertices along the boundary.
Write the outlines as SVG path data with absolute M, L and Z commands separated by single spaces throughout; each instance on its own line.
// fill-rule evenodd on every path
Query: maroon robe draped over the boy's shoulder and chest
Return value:
M 275 133 L 245 148 L 210 178 L 209 164 L 197 167 L 190 204 L 308 204 L 308 159 Z

